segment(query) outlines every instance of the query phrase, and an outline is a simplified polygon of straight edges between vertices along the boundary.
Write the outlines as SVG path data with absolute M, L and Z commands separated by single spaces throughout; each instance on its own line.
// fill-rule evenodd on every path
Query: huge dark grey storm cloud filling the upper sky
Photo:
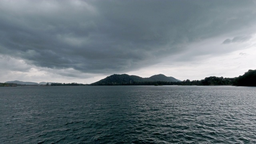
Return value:
M 3 0 L 0 53 L 43 68 L 127 72 L 254 26 L 255 7 L 250 0 Z

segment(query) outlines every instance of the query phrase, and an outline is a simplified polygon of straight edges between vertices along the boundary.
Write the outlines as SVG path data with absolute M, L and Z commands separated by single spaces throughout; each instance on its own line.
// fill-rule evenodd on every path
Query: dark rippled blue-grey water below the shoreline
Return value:
M 1 144 L 256 143 L 256 87 L 0 87 Z

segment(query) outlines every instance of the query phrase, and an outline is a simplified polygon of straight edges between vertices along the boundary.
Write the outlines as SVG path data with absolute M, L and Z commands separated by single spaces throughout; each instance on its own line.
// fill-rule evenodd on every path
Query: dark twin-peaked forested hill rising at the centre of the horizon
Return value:
M 151 76 L 149 78 L 142 78 L 140 76 L 130 76 L 128 74 L 113 74 L 111 76 L 108 76 L 98 82 L 94 82 L 91 85 L 130 85 L 130 84 L 138 84 L 142 82 L 157 82 L 157 81 L 163 81 L 163 82 L 178 82 L 180 80 L 177 80 L 173 77 L 168 77 L 163 74 L 158 74 Z

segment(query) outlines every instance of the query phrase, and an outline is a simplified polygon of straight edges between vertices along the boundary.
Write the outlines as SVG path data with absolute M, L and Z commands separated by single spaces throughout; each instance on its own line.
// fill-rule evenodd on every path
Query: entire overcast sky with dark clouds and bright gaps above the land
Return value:
M 256 69 L 255 0 L 0 0 L 0 82 Z

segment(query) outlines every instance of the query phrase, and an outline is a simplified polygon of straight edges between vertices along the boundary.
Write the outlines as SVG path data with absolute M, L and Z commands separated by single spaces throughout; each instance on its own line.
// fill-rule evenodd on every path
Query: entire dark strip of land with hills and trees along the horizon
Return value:
M 177 80 L 173 77 L 167 77 L 163 74 L 151 76 L 150 78 L 141 78 L 139 76 L 129 76 L 128 74 L 113 74 L 98 82 L 92 84 L 78 83 L 47 83 L 46 85 L 29 85 L 29 86 L 128 86 L 128 85 L 197 85 L 197 86 L 256 86 L 256 70 L 248 70 L 244 75 L 236 78 L 223 78 L 210 76 L 203 80 Z M 0 83 L 0 86 L 28 86 L 15 83 Z

